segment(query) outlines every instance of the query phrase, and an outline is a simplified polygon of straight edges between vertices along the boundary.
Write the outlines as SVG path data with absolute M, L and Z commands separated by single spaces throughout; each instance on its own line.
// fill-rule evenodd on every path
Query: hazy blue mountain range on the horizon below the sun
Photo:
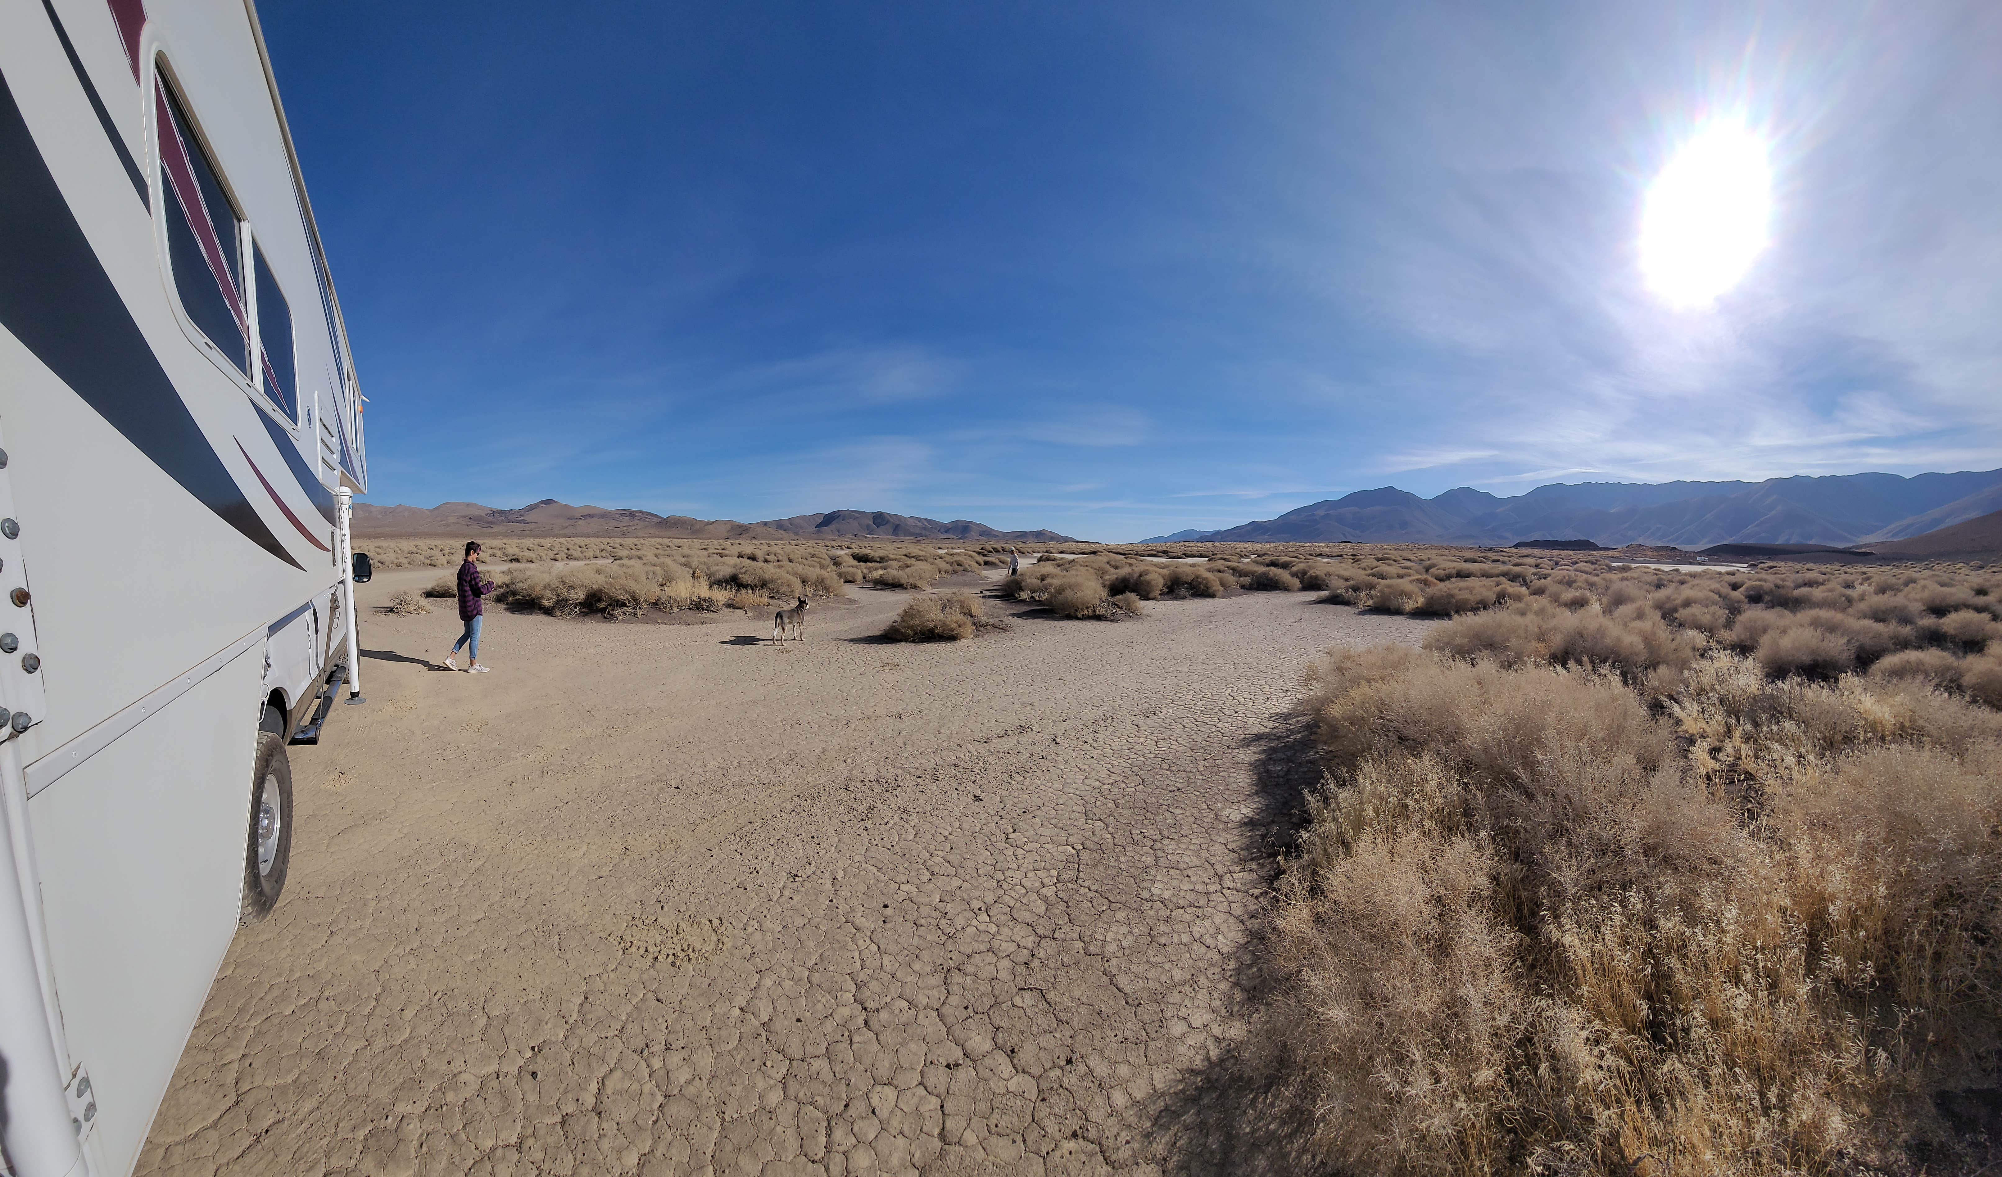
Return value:
M 1764 482 L 1556 482 L 1508 498 L 1469 486 L 1431 498 L 1381 486 L 1309 502 L 1277 518 L 1141 542 L 1514 544 L 1586 538 L 1602 546 L 1854 546 L 1928 534 L 1994 510 L 2002 510 L 2002 470 Z

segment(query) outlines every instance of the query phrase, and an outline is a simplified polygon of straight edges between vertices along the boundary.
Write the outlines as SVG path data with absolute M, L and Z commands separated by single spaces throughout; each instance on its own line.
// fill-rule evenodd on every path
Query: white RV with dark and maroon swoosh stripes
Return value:
M 0 1173 L 130 1173 L 360 699 L 360 390 L 248 0 L 0 0 Z

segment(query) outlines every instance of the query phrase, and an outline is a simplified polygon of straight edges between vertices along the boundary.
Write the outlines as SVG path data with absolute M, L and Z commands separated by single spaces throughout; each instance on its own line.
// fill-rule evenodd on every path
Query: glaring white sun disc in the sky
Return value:
M 1648 286 L 1674 306 L 1714 302 L 1766 248 L 1770 212 L 1766 144 L 1736 122 L 1700 130 L 1648 190 L 1640 220 Z

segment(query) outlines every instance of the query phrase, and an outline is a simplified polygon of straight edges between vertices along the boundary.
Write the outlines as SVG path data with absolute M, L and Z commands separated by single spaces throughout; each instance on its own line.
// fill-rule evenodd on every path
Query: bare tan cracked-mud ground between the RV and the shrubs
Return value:
M 362 605 L 428 582 L 390 572 Z M 1307 593 L 869 641 L 366 609 L 142 1173 L 1157 1173 L 1237 1033 Z M 1293 753 L 1279 753 L 1293 755 Z M 1263 759 L 1263 761 L 1261 761 Z M 1311 773 L 1311 765 L 1305 767 Z

